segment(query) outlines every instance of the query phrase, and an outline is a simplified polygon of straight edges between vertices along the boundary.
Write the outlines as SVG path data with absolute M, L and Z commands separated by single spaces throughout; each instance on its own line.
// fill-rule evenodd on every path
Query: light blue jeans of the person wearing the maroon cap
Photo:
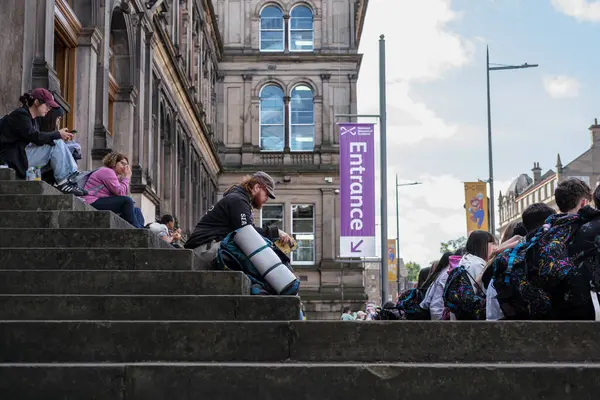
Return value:
M 77 172 L 77 163 L 63 140 L 55 140 L 54 146 L 29 144 L 25 148 L 25 152 L 29 167 L 41 167 L 43 170 L 44 167 L 50 165 L 57 183 L 62 183 Z

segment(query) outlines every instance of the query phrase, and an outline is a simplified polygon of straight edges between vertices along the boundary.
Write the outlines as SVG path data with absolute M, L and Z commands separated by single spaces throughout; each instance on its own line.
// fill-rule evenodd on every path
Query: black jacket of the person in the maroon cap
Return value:
M 0 164 L 8 164 L 18 177 L 25 178 L 29 168 L 25 147 L 29 143 L 38 146 L 54 145 L 54 141 L 60 138 L 58 131 L 40 132 L 29 110 L 25 107 L 17 108 L 0 123 Z

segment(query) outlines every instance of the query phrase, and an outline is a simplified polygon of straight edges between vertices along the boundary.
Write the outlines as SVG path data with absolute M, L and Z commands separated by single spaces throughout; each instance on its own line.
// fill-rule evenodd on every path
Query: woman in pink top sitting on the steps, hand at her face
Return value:
M 102 160 L 104 167 L 90 175 L 85 188 L 88 195 L 83 200 L 97 210 L 112 211 L 136 226 L 134 201 L 127 195 L 131 169 L 127 156 L 112 152 Z

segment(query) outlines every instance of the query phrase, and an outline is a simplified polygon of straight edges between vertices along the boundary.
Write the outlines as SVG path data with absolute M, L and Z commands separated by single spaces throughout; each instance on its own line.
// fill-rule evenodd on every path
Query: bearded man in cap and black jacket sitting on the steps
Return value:
M 260 210 L 269 199 L 274 199 L 274 189 L 273 178 L 259 171 L 227 189 L 223 198 L 208 209 L 185 243 L 185 248 L 193 249 L 202 260 L 200 269 L 212 267 L 220 242 L 229 233 L 248 224 L 254 225 L 252 208 Z M 276 226 L 255 229 L 273 241 L 279 239 L 283 244 L 292 241 L 287 233 Z

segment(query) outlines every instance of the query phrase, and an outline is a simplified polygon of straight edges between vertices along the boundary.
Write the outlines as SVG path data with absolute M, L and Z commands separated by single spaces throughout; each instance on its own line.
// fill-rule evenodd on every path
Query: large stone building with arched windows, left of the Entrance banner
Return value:
M 146 221 L 184 233 L 264 170 L 278 198 L 256 222 L 294 233 L 307 313 L 365 299 L 339 253 L 335 114 L 355 114 L 367 0 L 5 0 L 0 112 L 49 88 L 79 131 L 80 170 L 126 153 Z M 9 56 L 6 56 L 9 55 Z M 342 277 L 342 266 L 345 272 Z M 342 295 L 342 290 L 344 294 Z M 331 314 L 329 314 L 331 313 Z

